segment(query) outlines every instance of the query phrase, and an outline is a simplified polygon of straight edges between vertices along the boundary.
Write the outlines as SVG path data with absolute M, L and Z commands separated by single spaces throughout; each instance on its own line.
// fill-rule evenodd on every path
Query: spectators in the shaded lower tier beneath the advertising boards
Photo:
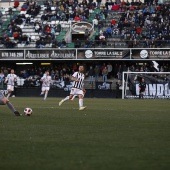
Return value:
M 85 76 L 86 81 L 89 84 L 94 84 L 95 82 L 107 82 L 109 80 L 122 80 L 123 72 L 157 72 L 152 63 L 144 64 L 132 64 L 132 63 L 112 63 L 112 62 L 96 62 L 96 63 L 82 63 L 85 65 Z M 69 82 L 70 76 L 78 70 L 77 63 L 63 63 L 53 66 L 33 66 L 27 69 L 21 70 L 19 68 L 15 69 L 15 73 L 20 79 L 24 79 L 23 86 L 25 87 L 36 87 L 40 86 L 40 78 L 44 75 L 45 71 L 50 72 L 50 76 L 53 81 L 56 82 Z M 161 63 L 159 65 L 159 72 L 170 72 L 169 63 Z M 0 86 L 4 85 L 5 77 L 10 73 L 8 67 L 0 66 Z

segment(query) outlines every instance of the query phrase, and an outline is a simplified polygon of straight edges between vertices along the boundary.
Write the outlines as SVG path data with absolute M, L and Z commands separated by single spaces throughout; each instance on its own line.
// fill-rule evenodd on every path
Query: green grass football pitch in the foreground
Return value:
M 11 98 L 0 106 L 2 170 L 169 170 L 169 100 Z

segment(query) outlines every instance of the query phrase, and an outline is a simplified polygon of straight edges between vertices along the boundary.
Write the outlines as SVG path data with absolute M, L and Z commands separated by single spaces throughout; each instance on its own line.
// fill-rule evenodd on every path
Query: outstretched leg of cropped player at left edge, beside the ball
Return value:
M 20 113 L 18 111 L 15 110 L 14 106 L 10 103 L 10 101 L 8 100 L 8 98 L 6 98 L 3 93 L 0 91 L 0 105 L 7 105 L 8 108 L 16 115 L 16 116 L 20 116 Z

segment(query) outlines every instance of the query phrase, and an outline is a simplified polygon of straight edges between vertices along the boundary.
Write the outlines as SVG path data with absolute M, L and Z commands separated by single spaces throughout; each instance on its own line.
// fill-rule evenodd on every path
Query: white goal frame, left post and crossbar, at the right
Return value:
M 125 98 L 125 79 L 124 79 L 124 77 L 125 77 L 125 74 L 139 74 L 139 75 L 146 75 L 146 74 L 169 74 L 170 75 L 170 72 L 130 72 L 130 71 L 128 71 L 128 72 L 123 72 L 122 73 L 123 75 L 122 75 L 122 99 L 124 99 Z M 127 80 L 126 80 L 127 81 Z M 156 97 L 156 96 L 155 96 Z

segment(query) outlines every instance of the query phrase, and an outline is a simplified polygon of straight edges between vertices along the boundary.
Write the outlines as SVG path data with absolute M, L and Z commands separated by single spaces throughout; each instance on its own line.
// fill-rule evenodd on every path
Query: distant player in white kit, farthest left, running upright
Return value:
M 14 74 L 14 69 L 11 69 L 11 73 L 8 74 L 5 79 L 5 83 L 7 83 L 7 90 L 8 90 L 7 98 L 14 91 L 15 82 L 17 82 L 17 75 Z

